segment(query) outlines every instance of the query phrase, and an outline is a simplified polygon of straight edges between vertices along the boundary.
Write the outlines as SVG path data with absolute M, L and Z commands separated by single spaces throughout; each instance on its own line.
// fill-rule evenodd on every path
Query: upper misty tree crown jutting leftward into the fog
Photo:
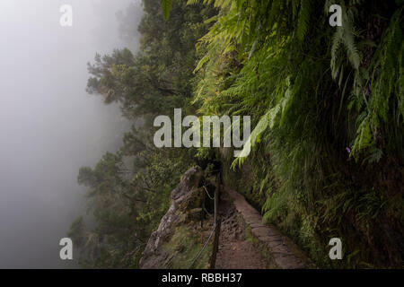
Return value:
M 171 3 L 171 1 L 169 1 Z M 187 106 L 192 96 L 190 77 L 196 61 L 195 44 L 206 33 L 204 23 L 215 10 L 177 1 L 172 15 L 162 21 L 160 2 L 145 1 L 145 15 L 138 30 L 141 49 L 116 49 L 111 55 L 96 55 L 89 64 L 92 77 L 87 91 L 117 101 L 126 117 L 171 114 Z

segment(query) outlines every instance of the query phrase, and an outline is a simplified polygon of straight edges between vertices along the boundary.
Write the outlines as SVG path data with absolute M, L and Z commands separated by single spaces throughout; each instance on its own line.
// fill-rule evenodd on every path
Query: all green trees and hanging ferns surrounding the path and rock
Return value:
M 329 6 L 342 25 L 329 25 Z M 93 226 L 68 236 L 85 268 L 138 268 L 181 174 L 217 162 L 321 268 L 404 263 L 404 1 L 144 0 L 140 48 L 97 54 L 87 91 L 133 122 L 119 152 L 79 170 Z M 131 11 L 121 30 L 133 33 Z M 154 118 L 251 118 L 248 156 L 158 148 Z M 223 140 L 223 139 L 222 139 Z M 231 152 L 229 152 L 230 150 Z M 344 260 L 331 261 L 331 238 Z

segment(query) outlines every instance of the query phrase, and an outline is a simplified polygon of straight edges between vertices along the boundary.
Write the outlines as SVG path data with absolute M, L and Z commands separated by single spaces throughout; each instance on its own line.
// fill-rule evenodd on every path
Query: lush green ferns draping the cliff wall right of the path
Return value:
M 264 193 L 264 219 L 319 265 L 400 265 L 392 238 L 403 212 L 387 198 L 402 204 L 402 188 L 382 178 L 404 161 L 402 3 L 214 2 L 194 102 L 203 114 L 252 117 L 253 152 L 226 165 L 253 180 L 241 190 Z M 328 25 L 330 4 L 341 5 L 342 27 Z M 331 237 L 347 242 L 346 262 L 329 263 Z

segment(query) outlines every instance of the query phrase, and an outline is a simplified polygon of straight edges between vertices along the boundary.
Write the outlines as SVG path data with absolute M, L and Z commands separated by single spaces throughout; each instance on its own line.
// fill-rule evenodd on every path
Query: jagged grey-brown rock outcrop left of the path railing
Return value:
M 162 221 L 147 242 L 145 251 L 140 259 L 140 268 L 171 268 L 175 265 L 175 257 L 179 253 L 186 252 L 196 242 L 192 242 L 192 219 L 195 218 L 195 210 L 200 207 L 203 191 L 199 184 L 202 180 L 202 172 L 198 167 L 186 171 L 180 184 L 171 191 L 171 205 L 168 212 L 162 217 Z M 183 233 L 184 239 L 178 240 Z M 188 242 L 188 246 L 180 246 L 178 243 Z M 196 244 L 198 245 L 198 244 Z M 182 261 L 186 261 L 182 256 Z

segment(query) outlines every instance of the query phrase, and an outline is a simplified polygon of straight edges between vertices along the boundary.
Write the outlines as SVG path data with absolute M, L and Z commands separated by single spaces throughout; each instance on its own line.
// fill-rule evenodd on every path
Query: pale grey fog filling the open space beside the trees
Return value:
M 115 152 L 128 123 L 88 95 L 96 52 L 136 49 L 116 13 L 140 0 L 0 1 L 0 267 L 69 268 L 59 240 L 83 213 L 81 166 Z M 61 27 L 62 4 L 73 26 Z

